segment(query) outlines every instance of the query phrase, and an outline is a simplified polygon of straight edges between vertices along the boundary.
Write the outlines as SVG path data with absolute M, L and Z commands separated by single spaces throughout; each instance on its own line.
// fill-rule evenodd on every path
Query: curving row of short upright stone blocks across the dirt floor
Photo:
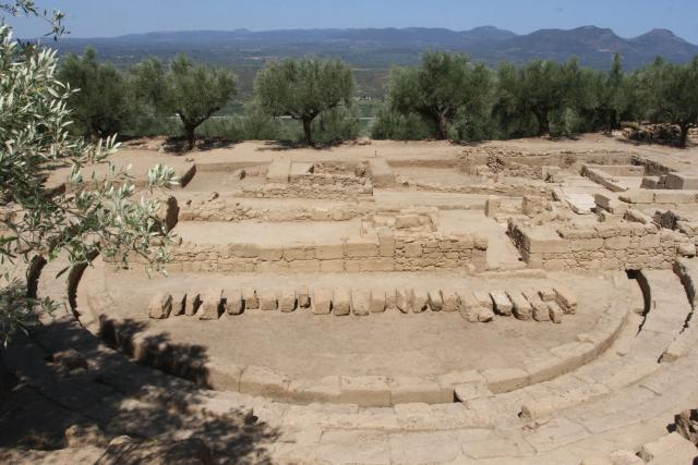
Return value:
M 470 322 L 492 321 L 495 315 L 515 316 L 520 320 L 553 321 L 561 323 L 564 314 L 574 314 L 576 296 L 563 286 L 526 291 L 422 291 L 408 287 L 349 290 L 318 289 L 314 293 L 306 286 L 265 290 L 209 290 L 205 294 L 181 293 L 173 297 L 161 293 L 153 297 L 148 316 L 154 319 L 170 315 L 196 315 L 202 320 L 218 319 L 224 313 L 240 315 L 244 310 L 309 309 L 315 315 L 368 316 L 396 308 L 399 311 L 423 313 L 459 311 Z

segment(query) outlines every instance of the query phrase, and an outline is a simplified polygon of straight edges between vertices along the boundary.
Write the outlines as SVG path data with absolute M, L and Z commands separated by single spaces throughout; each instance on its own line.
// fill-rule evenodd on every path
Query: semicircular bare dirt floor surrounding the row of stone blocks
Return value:
M 549 274 L 546 278 L 498 276 L 473 278 L 465 273 L 309 273 L 309 274 L 176 274 L 144 285 L 142 274 L 119 272 L 107 280 L 117 302 L 115 316 L 145 326 L 148 334 L 174 344 L 198 345 L 207 356 L 242 365 L 266 366 L 291 377 L 322 378 L 329 375 L 384 375 L 433 377 L 452 370 L 516 367 L 524 359 L 575 341 L 591 330 L 616 291 L 611 273 L 579 277 Z M 260 291 L 282 286 L 370 289 L 399 285 L 421 290 L 535 289 L 561 283 L 575 290 L 577 315 L 562 325 L 496 318 L 492 323 L 469 323 L 458 313 L 404 315 L 396 309 L 369 317 L 312 315 L 250 310 L 224 315 L 216 321 L 196 316 L 148 320 L 147 303 L 155 293 L 204 292 L 207 287 L 237 289 L 251 285 Z M 124 292 L 129 290 L 129 292 Z M 638 295 L 637 305 L 641 306 Z M 603 304 L 600 304 L 603 303 Z

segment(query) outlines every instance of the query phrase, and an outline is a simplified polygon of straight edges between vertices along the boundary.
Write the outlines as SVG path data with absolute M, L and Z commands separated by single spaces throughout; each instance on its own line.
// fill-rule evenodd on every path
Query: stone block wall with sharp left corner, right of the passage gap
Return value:
M 592 228 L 524 227 L 508 234 L 531 268 L 547 270 L 671 269 L 688 237 L 655 224 L 622 221 Z

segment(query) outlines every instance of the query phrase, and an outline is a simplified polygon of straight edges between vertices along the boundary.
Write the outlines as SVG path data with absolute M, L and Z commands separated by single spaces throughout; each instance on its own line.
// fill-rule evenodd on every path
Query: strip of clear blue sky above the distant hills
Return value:
M 75 37 L 239 27 L 462 30 L 484 25 L 527 34 L 592 24 L 623 37 L 662 27 L 698 44 L 698 0 L 37 0 L 37 4 L 64 11 Z M 19 37 L 46 29 L 38 21 L 9 22 Z

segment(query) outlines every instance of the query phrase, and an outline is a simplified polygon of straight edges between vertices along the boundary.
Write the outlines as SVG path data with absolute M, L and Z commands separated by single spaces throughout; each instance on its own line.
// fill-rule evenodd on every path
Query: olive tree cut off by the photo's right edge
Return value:
M 684 65 L 657 59 L 638 79 L 648 115 L 678 125 L 679 147 L 686 147 L 688 130 L 698 124 L 698 57 Z

